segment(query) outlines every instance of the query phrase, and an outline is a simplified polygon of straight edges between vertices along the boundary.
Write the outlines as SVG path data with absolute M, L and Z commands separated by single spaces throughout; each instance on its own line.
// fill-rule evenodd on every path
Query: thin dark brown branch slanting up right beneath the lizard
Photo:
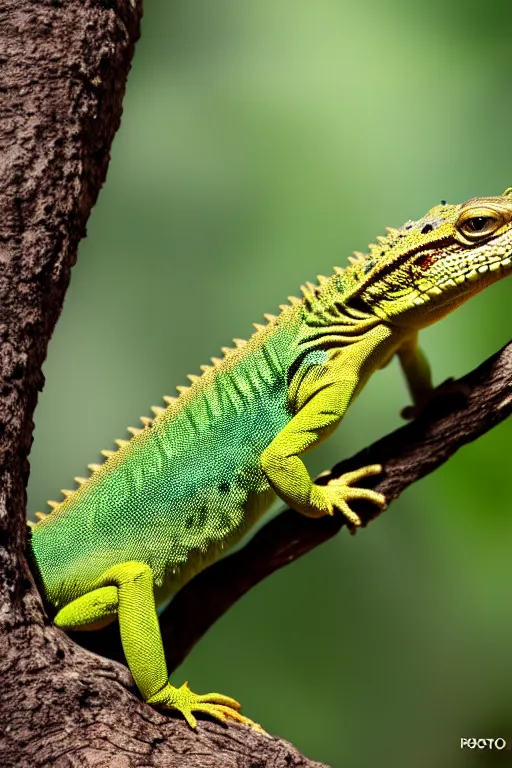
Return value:
M 318 482 L 327 482 L 366 464 L 382 464 L 383 474 L 365 485 L 385 494 L 388 504 L 398 498 L 461 446 L 476 440 L 510 415 L 512 343 L 453 382 L 450 389 L 451 395 L 435 399 L 421 417 L 340 462 L 330 473 L 318 478 Z M 357 511 L 365 524 L 380 514 L 376 507 L 364 503 Z M 243 549 L 198 574 L 161 616 L 169 669 L 181 664 L 211 625 L 249 589 L 330 539 L 343 525 L 345 520 L 341 516 L 313 520 L 286 510 L 265 525 Z M 78 636 L 77 640 L 82 641 Z M 123 660 L 116 628 L 105 630 L 103 638 L 91 635 L 88 647 Z

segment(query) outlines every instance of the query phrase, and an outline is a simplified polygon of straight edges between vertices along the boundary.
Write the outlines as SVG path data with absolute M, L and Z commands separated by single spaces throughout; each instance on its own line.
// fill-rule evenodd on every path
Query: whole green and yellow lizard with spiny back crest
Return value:
M 126 660 L 144 699 L 250 723 L 234 699 L 194 694 L 168 681 L 156 605 L 218 558 L 277 496 L 303 515 L 335 511 L 355 529 L 355 499 L 384 507 L 357 482 L 361 467 L 320 486 L 301 455 L 340 423 L 369 376 L 397 354 L 415 406 L 428 400 L 430 371 L 418 331 L 511 272 L 512 196 L 433 208 L 388 229 L 345 269 L 223 359 L 212 359 L 178 398 L 164 398 L 143 429 L 103 451 L 89 478 L 75 478 L 53 511 L 38 513 L 30 558 L 54 621 L 96 629 L 119 621 Z

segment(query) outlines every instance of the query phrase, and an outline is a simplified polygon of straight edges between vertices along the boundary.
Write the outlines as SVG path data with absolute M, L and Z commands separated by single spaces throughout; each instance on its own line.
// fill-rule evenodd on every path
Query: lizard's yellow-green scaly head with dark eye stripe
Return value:
M 389 229 L 338 276 L 347 305 L 424 327 L 512 272 L 512 189 Z

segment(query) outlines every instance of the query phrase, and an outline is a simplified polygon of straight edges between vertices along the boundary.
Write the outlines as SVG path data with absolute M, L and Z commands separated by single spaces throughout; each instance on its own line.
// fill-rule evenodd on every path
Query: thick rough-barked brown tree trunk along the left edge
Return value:
M 105 179 L 141 0 L 0 0 L 0 763 L 313 766 L 278 739 L 180 719 L 49 624 L 24 559 L 32 415 Z

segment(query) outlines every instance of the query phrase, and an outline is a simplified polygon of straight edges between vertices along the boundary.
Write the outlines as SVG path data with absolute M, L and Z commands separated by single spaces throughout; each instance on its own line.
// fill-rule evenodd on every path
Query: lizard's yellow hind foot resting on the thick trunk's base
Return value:
M 239 712 L 241 705 L 236 699 L 223 696 L 221 693 L 204 693 L 203 695 L 193 693 L 188 683 L 183 683 L 180 688 L 167 683 L 161 691 L 151 696 L 147 703 L 155 707 L 177 709 L 191 728 L 197 728 L 197 720 L 192 712 L 203 712 L 220 720 L 221 723 L 234 720 L 237 723 L 250 725 L 256 730 L 263 730 L 261 726 Z

